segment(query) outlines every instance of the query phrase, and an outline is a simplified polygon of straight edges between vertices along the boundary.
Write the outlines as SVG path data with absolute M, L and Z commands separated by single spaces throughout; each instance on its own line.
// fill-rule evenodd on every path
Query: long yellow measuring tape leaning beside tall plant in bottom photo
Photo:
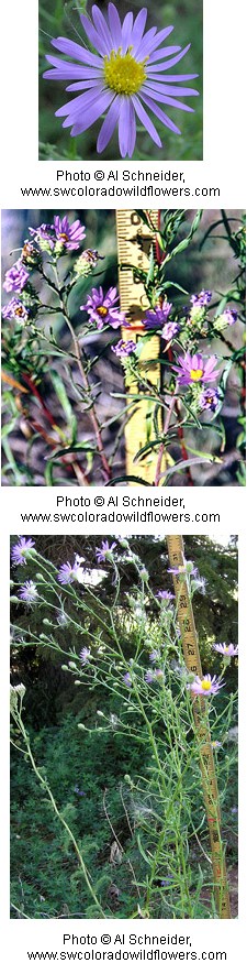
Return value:
M 167 546 L 170 567 L 183 568 L 184 556 L 182 537 L 180 535 L 169 535 L 169 537 L 167 537 Z M 172 578 L 186 666 L 190 672 L 194 672 L 201 678 L 202 667 L 187 574 L 186 572 L 181 571 L 179 574 L 173 574 Z M 215 774 L 210 726 L 206 718 L 205 701 L 203 697 L 194 697 L 193 712 L 194 722 L 200 738 L 200 765 L 202 774 L 203 797 L 210 833 L 215 901 L 220 919 L 226 920 L 231 919 L 229 895 L 227 887 L 224 849 L 221 836 L 221 811 L 217 779 Z

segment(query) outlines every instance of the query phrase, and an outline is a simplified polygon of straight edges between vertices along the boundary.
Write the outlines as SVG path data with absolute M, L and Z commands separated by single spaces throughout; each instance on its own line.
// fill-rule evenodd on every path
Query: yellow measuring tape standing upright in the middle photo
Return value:
M 158 210 L 149 211 L 150 220 L 154 228 L 158 229 Z M 125 269 L 126 264 L 137 267 L 139 271 L 147 271 L 149 266 L 149 256 L 151 247 L 155 244 L 155 231 L 151 231 L 138 216 L 135 210 L 117 210 L 116 211 L 116 232 L 117 232 L 117 251 L 119 251 L 119 286 L 121 310 L 124 313 L 130 328 L 122 328 L 122 338 L 128 341 L 132 338 L 136 343 L 139 336 L 143 335 L 144 313 L 148 308 L 148 299 L 146 297 L 144 285 L 133 276 L 133 271 Z M 147 347 L 146 347 L 147 348 Z M 148 359 L 146 349 L 143 350 L 139 363 L 145 379 L 157 387 L 159 381 L 159 338 L 154 336 L 148 342 Z M 144 365 L 145 362 L 145 365 Z M 149 417 L 151 415 L 154 403 L 148 400 L 148 393 L 142 401 L 135 401 L 133 396 L 138 394 L 137 383 L 133 381 L 128 386 L 128 404 L 130 412 L 133 407 L 133 414 L 125 428 L 126 442 L 126 473 L 134 477 L 141 477 L 153 483 L 155 479 L 157 455 L 150 453 L 145 459 L 134 462 L 134 458 L 149 439 L 154 439 L 154 429 Z

